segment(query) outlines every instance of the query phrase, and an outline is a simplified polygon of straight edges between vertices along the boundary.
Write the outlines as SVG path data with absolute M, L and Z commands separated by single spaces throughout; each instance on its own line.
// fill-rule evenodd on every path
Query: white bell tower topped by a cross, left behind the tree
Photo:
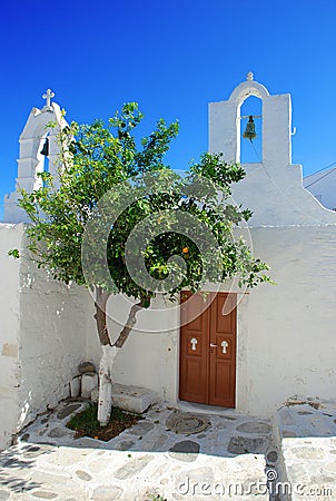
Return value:
M 32 108 L 19 139 L 20 154 L 18 159 L 18 177 L 16 191 L 4 197 L 4 223 L 27 223 L 28 218 L 18 206 L 20 189 L 31 193 L 42 185 L 38 173 L 48 170 L 56 179 L 58 171 L 58 134 L 67 122 L 59 105 L 51 102 L 55 94 L 48 89 L 42 98 L 46 99 L 43 108 Z M 56 127 L 48 129 L 49 122 Z

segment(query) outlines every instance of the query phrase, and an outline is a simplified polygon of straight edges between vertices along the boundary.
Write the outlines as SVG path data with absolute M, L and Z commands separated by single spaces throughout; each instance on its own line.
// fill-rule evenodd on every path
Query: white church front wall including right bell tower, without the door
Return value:
M 245 164 L 246 178 L 234 199 L 254 212 L 241 229 L 254 254 L 270 266 L 276 285 L 238 294 L 237 410 L 270 415 L 293 394 L 336 399 L 334 346 L 336 214 L 303 188 L 302 167 L 291 165 L 290 96 L 270 96 L 258 82 L 240 84 L 228 101 L 210 104 L 209 149 L 238 161 L 240 106 L 249 96 L 263 99 L 263 163 Z M 208 289 L 211 289 L 208 286 Z M 231 288 L 223 284 L 220 291 Z M 130 305 L 110 299 L 111 331 L 117 333 Z M 115 381 L 156 390 L 178 400 L 178 313 L 162 308 L 155 318 L 142 312 L 116 358 Z M 156 334 L 150 331 L 157 331 Z M 160 332 L 161 330 L 161 332 Z M 95 325 L 88 326 L 87 353 L 99 358 Z M 92 334 L 93 333 L 93 334 Z

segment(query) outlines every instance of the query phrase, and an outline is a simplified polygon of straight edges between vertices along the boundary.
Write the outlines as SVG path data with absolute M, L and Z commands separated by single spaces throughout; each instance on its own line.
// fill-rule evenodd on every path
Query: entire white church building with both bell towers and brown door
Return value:
M 227 100 L 209 105 L 209 151 L 240 161 L 240 108 L 250 96 L 261 100 L 261 161 L 244 164 L 246 178 L 233 196 L 254 212 L 246 236 L 254 254 L 269 264 L 276 285 L 248 292 L 223 284 L 211 306 L 181 328 L 179 310 L 158 301 L 159 316 L 139 314 L 137 330 L 116 358 L 113 377 L 154 390 L 175 405 L 189 401 L 269 416 L 294 395 L 336 399 L 336 214 L 304 188 L 302 166 L 291 164 L 290 96 L 269 95 L 251 73 Z M 46 124 L 63 126 L 60 108 L 49 92 L 46 98 L 42 109 L 31 110 L 20 136 L 17 186 L 28 190 L 38 186 L 36 173 L 46 168 L 40 153 Z M 48 156 L 53 171 L 55 136 Z M 7 255 L 27 246 L 17 199 L 17 193 L 6 198 L 0 224 L 0 405 L 7 411 L 0 448 L 69 395 L 79 362 L 98 364 L 100 357 L 88 291 L 55 282 L 33 263 Z M 233 308 L 223 315 L 228 293 Z M 111 326 L 120 330 L 127 302 L 113 296 L 109 311 Z

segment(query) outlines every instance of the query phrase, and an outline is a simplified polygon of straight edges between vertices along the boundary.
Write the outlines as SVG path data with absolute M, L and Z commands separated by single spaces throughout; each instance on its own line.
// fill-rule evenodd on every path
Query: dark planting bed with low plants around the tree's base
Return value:
M 75 414 L 70 419 L 67 423 L 67 428 L 76 431 L 76 439 L 90 436 L 96 440 L 109 441 L 141 419 L 141 414 L 126 412 L 119 407 L 112 407 L 108 424 L 101 426 L 97 420 L 97 404 L 90 403 L 85 411 Z

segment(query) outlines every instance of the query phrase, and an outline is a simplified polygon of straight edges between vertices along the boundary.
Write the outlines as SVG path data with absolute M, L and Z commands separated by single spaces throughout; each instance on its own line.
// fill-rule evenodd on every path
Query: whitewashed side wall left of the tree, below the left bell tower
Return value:
M 69 396 L 69 381 L 86 356 L 89 301 L 86 289 L 8 256 L 10 248 L 26 248 L 22 224 L 0 225 L 0 449 L 38 413 Z

